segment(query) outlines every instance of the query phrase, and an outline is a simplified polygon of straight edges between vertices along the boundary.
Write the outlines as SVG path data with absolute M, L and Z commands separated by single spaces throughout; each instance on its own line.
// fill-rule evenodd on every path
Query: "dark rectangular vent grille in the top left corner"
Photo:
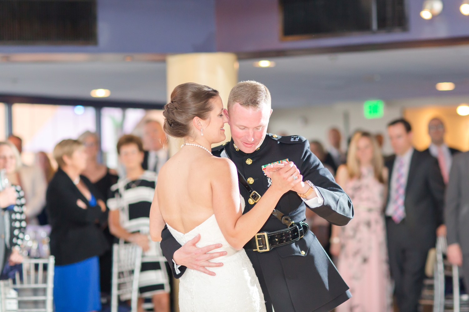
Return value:
M 96 45 L 96 0 L 0 0 L 0 44 Z

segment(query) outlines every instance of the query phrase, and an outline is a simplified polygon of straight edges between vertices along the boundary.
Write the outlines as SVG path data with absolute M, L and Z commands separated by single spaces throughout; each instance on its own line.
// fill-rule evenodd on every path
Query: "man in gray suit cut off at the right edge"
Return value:
M 469 152 L 454 156 L 446 187 L 444 218 L 447 257 L 463 267 L 464 283 L 469 287 Z

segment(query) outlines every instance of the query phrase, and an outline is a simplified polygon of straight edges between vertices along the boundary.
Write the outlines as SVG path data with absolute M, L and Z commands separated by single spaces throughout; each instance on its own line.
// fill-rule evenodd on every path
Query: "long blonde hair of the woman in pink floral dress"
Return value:
M 381 154 L 381 150 L 378 147 L 378 142 L 376 141 L 376 138 L 369 132 L 357 131 L 352 137 L 352 140 L 350 141 L 347 154 L 348 176 L 351 179 L 359 179 L 362 176 L 362 172 L 360 171 L 360 163 L 358 161 L 358 158 L 356 157 L 358 140 L 360 140 L 361 138 L 368 138 L 370 140 L 371 146 L 373 148 L 373 158 L 371 158 L 371 165 L 373 166 L 374 175 L 380 183 L 384 183 L 385 181 L 383 178 L 383 155 Z

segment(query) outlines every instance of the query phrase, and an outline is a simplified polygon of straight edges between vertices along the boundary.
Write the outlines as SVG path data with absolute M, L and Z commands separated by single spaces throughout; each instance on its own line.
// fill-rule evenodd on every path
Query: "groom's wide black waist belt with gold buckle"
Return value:
M 274 247 L 287 245 L 303 238 L 308 230 L 308 225 L 304 222 L 300 222 L 299 224 L 280 231 L 260 232 L 244 245 L 244 249 L 258 251 L 260 253 L 269 251 Z

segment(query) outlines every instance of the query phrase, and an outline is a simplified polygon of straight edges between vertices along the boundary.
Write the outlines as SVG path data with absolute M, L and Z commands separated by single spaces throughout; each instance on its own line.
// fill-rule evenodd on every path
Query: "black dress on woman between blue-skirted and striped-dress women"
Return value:
M 107 199 L 109 198 L 109 191 L 111 189 L 111 186 L 115 183 L 117 183 L 117 180 L 119 177 L 115 174 L 111 174 L 109 172 L 109 168 L 106 169 L 106 175 L 103 176 L 101 179 L 96 181 L 94 184 L 95 188 L 98 189 L 98 191 L 101 193 L 101 195 L 104 198 L 104 202 L 107 202 Z M 101 229 L 103 230 L 104 236 L 106 237 L 107 242 L 109 243 L 110 246 L 113 245 L 114 242 L 114 236 L 109 232 L 109 226 L 107 225 L 107 222 L 101 226 Z M 113 259 L 112 259 L 112 248 L 110 248 L 108 251 L 106 251 L 105 254 L 101 255 L 99 257 L 99 272 L 100 272 L 100 283 L 101 283 L 101 292 L 102 293 L 111 293 L 111 272 L 112 272 L 112 265 L 113 265 Z

